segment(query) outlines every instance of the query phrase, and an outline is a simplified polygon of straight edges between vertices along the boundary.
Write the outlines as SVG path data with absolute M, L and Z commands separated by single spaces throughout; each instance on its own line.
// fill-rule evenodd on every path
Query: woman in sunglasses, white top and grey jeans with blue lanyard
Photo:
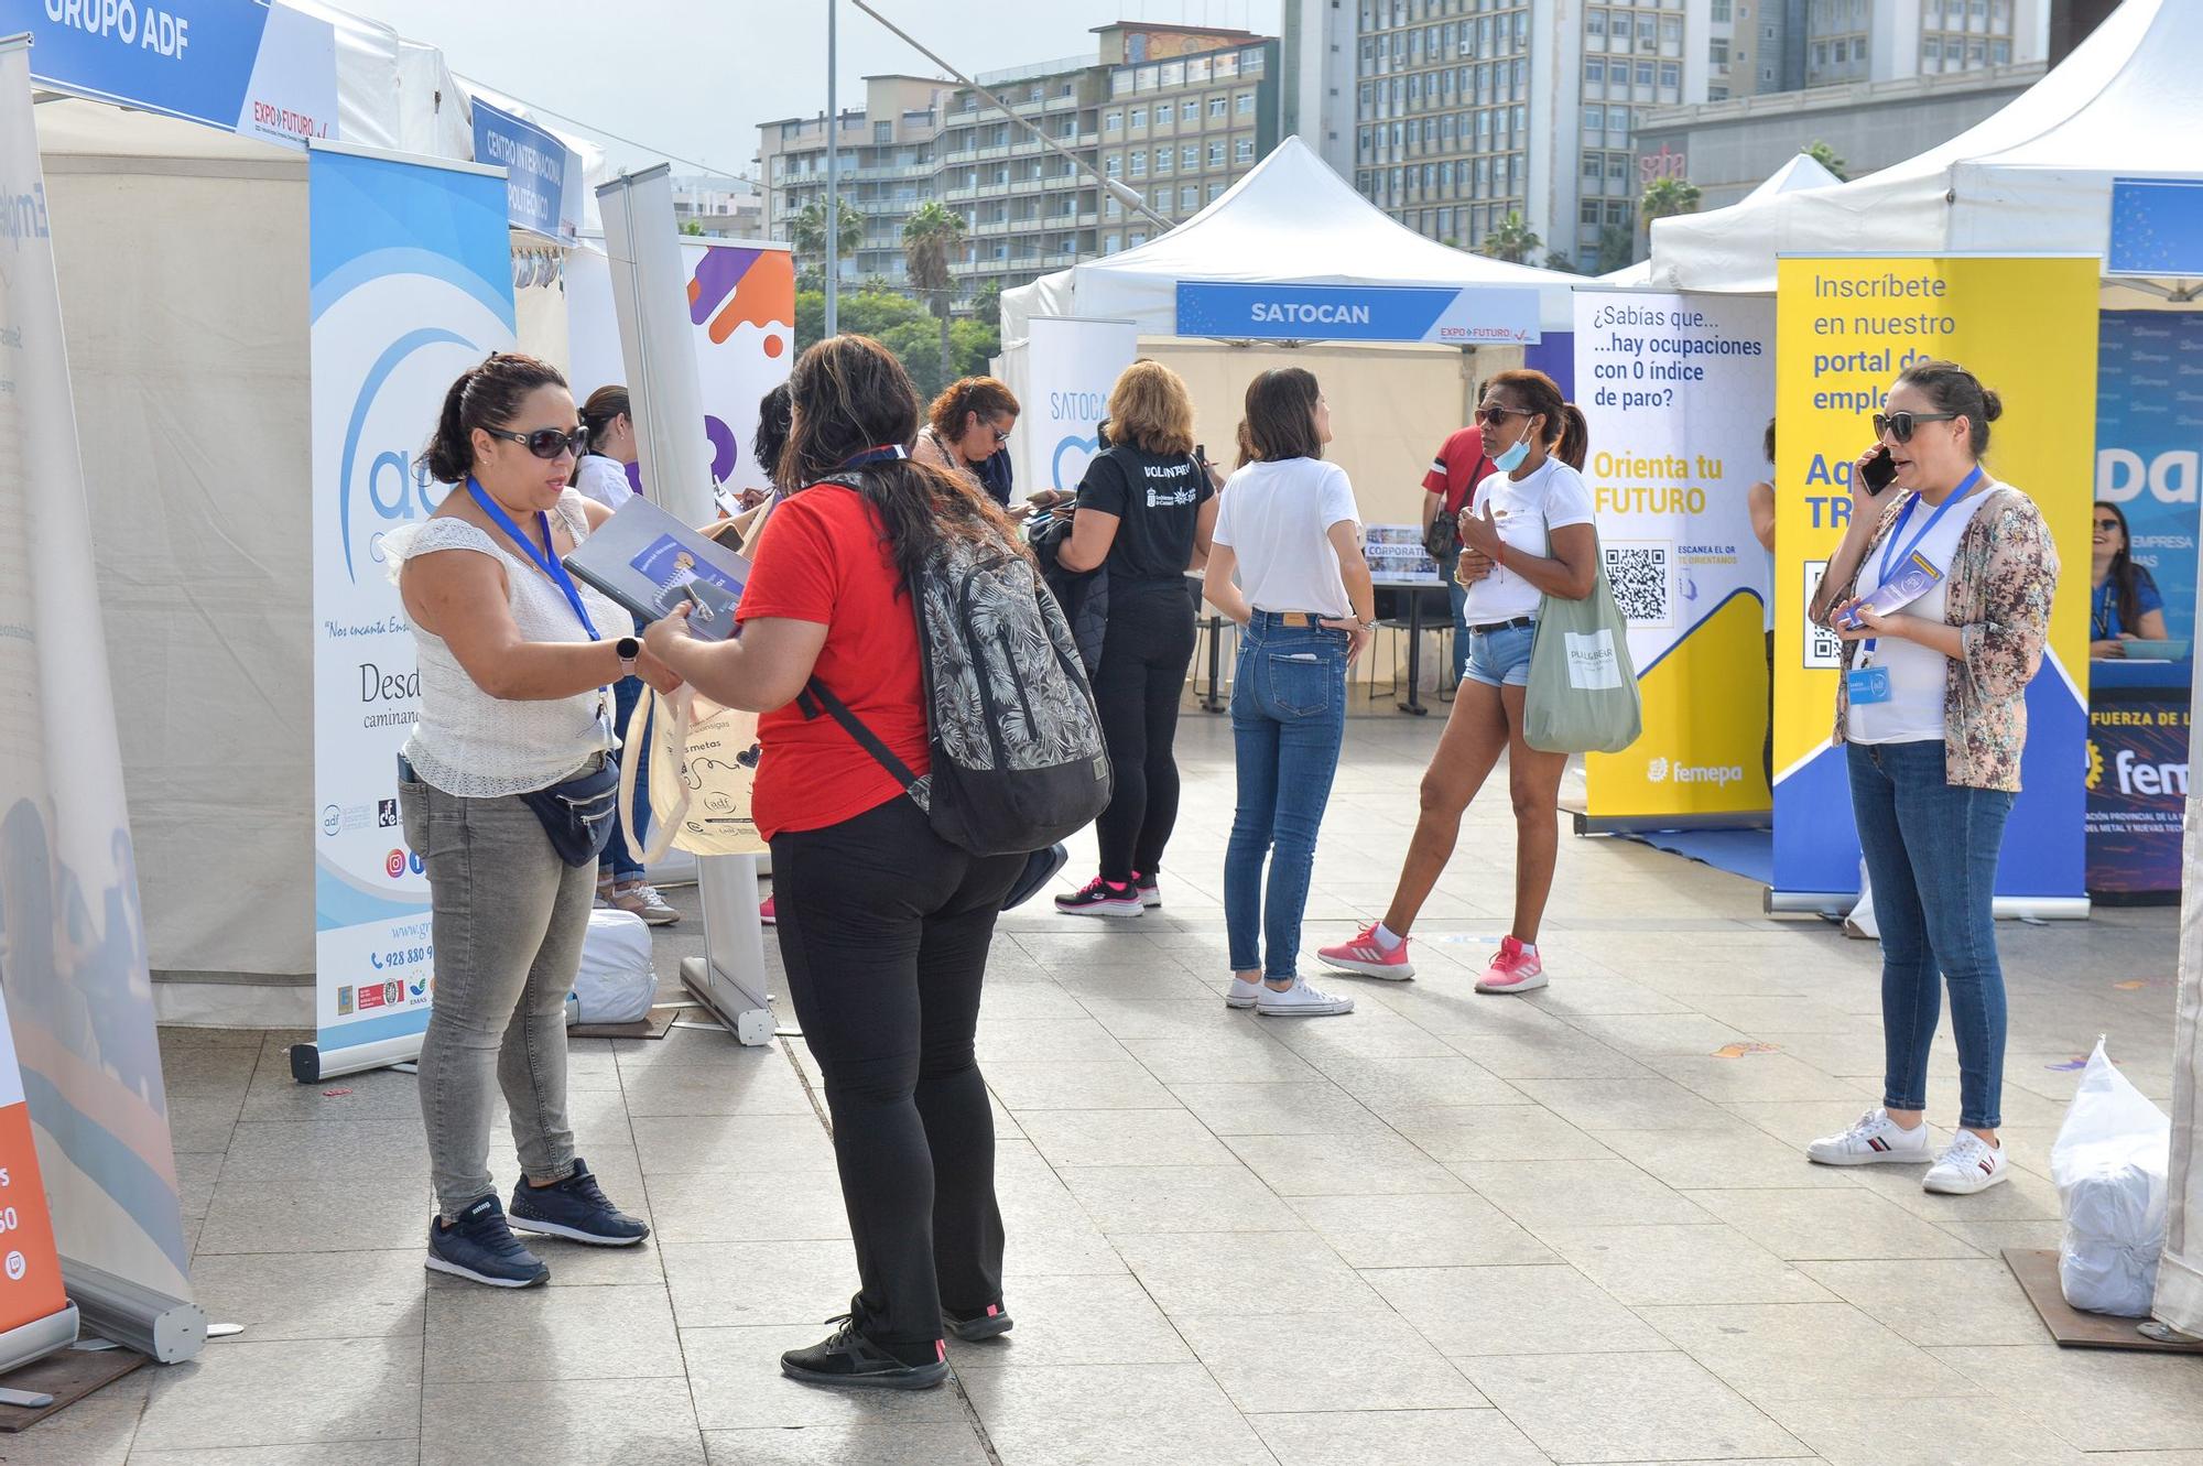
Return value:
M 628 634 L 628 612 L 560 564 L 610 517 L 566 482 L 582 442 L 555 368 L 489 357 L 452 383 L 421 456 L 454 491 L 434 517 L 383 539 L 421 654 L 399 806 L 434 902 L 436 1006 L 421 1046 L 436 1182 L 427 1266 L 493 1288 L 551 1277 L 513 1226 L 595 1246 L 650 1235 L 606 1200 L 566 1123 L 566 993 L 597 863 L 568 865 L 524 799 L 604 768 L 606 689 L 621 676 L 679 687 Z M 511 1213 L 489 1175 L 498 1090 L 524 1171 Z

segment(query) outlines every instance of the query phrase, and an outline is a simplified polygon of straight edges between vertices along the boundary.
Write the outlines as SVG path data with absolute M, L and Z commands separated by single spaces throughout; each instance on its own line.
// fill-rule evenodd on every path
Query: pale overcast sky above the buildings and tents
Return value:
M 961 70 L 1090 55 L 1093 26 L 1170 20 L 1276 35 L 1280 0 L 872 0 Z M 441 46 L 452 70 L 630 136 L 615 165 L 668 154 L 747 174 L 758 123 L 826 108 L 826 0 L 335 0 Z M 932 75 L 842 0 L 842 106 L 866 73 Z M 676 163 L 676 174 L 694 172 Z

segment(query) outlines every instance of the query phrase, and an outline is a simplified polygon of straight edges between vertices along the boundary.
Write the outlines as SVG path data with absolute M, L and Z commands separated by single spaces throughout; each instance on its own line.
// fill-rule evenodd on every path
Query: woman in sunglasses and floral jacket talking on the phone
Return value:
M 1888 1052 L 1881 1103 L 1806 1153 L 1831 1167 L 1930 1160 L 1928 1052 L 1950 986 L 1958 1129 L 1921 1180 L 1947 1195 L 2007 1175 L 1992 905 L 2020 788 L 2027 682 L 2058 594 L 2042 513 L 1980 462 L 2000 414 L 1996 394 L 1952 361 L 1906 368 L 1875 414 L 1879 442 L 1853 464 L 1851 526 L 1809 610 L 1848 643 L 1835 742 L 1848 744 L 1851 810 L 1875 887 Z M 1919 561 L 1936 575 L 1908 581 Z

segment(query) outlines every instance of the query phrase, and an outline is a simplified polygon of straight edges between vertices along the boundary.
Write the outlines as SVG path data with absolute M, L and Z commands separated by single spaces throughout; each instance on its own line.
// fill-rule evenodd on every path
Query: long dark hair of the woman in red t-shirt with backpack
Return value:
M 789 374 L 789 401 L 795 427 L 773 475 L 789 493 L 809 493 L 866 449 L 910 449 L 919 436 L 919 392 L 894 352 L 870 337 L 828 337 L 806 350 Z M 958 473 L 912 458 L 864 464 L 855 473 L 879 511 L 903 590 L 919 583 L 947 539 L 1027 553 L 1002 508 Z

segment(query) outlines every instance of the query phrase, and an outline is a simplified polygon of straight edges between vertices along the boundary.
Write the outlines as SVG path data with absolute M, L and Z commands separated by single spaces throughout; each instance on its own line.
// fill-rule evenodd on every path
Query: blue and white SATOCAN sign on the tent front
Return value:
M 1179 335 L 1231 341 L 1439 341 L 1522 346 L 1538 339 L 1538 293 L 1513 286 L 1324 286 L 1179 282 Z

